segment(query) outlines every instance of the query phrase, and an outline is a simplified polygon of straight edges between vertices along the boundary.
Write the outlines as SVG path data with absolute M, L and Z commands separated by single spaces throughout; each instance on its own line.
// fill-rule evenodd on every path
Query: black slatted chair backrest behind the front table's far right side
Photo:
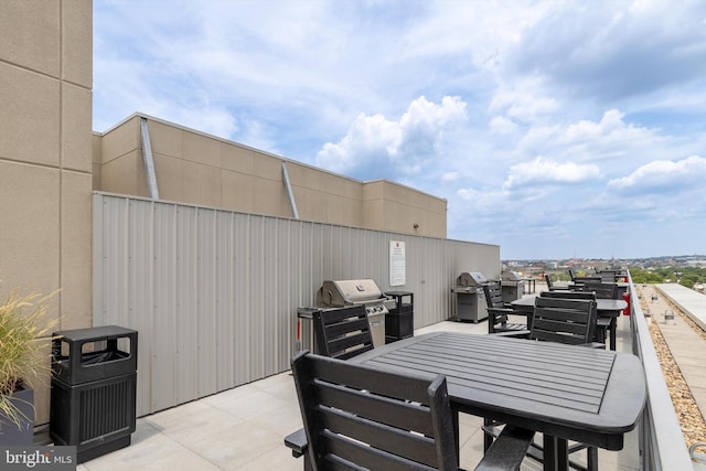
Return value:
M 596 301 L 537 297 L 531 339 L 578 345 L 590 343 L 596 329 Z

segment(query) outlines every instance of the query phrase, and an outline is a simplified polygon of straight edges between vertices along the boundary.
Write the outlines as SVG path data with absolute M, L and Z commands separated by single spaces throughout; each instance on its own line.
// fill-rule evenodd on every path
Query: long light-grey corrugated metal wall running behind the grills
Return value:
M 389 287 L 406 246 L 415 328 L 448 319 L 461 271 L 500 272 L 500 248 L 96 193 L 94 325 L 139 331 L 138 415 L 289 368 L 296 311 L 325 279 Z

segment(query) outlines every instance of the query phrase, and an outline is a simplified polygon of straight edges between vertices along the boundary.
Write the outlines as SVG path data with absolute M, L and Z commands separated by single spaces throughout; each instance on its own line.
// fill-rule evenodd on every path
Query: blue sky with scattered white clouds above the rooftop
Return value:
M 502 259 L 706 254 L 706 2 L 101 0 L 135 113 L 447 200 Z

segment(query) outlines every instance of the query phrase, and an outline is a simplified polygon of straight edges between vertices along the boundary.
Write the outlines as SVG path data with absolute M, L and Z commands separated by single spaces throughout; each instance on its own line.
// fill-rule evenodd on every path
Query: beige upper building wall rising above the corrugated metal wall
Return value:
M 388 181 L 360 182 L 267 152 L 135 115 L 94 138 L 94 189 L 149 197 L 140 120 L 161 200 L 446 238 L 446 200 Z

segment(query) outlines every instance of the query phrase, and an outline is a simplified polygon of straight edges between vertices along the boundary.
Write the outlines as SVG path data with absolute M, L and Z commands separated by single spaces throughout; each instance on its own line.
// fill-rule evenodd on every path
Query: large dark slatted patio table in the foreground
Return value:
M 544 469 L 568 469 L 567 440 L 620 450 L 645 402 L 637 356 L 494 335 L 435 332 L 349 362 L 447 377 L 462 413 L 544 433 Z

